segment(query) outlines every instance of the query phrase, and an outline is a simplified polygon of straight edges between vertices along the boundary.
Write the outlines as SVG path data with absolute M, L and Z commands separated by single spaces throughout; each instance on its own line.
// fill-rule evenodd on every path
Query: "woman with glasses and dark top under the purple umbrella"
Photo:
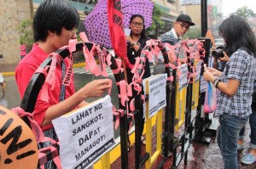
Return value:
M 145 21 L 141 14 L 133 14 L 131 16 L 129 27 L 131 29 L 131 33 L 130 33 L 130 35 L 126 36 L 126 40 L 128 42 L 127 56 L 128 56 L 128 59 L 130 60 L 131 64 L 134 65 L 136 58 L 141 55 L 142 50 L 146 45 L 146 42 L 149 40 L 149 37 L 146 37 Z M 144 70 L 145 71 L 144 71 L 143 79 L 150 76 L 150 68 L 149 68 L 148 59 L 146 60 Z M 128 82 L 128 84 L 130 84 L 132 82 L 133 74 L 131 73 L 130 68 L 127 68 L 126 72 L 127 72 L 127 82 Z M 135 94 L 136 93 L 133 91 L 132 95 L 134 96 Z M 142 107 L 139 110 L 143 110 L 143 104 L 141 104 L 140 106 L 142 106 Z M 144 127 L 144 121 L 145 121 L 145 118 L 143 118 L 142 112 L 140 113 L 140 117 L 139 117 L 139 118 L 143 119 L 143 122 L 140 126 L 141 133 L 143 133 L 143 127 Z M 143 137 L 142 137 L 142 141 L 144 141 Z

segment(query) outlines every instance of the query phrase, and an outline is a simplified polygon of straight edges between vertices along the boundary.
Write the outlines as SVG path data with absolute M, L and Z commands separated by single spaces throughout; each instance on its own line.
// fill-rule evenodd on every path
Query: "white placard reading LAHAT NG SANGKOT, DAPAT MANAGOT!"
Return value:
M 113 105 L 107 95 L 52 121 L 62 168 L 87 168 L 113 147 Z

